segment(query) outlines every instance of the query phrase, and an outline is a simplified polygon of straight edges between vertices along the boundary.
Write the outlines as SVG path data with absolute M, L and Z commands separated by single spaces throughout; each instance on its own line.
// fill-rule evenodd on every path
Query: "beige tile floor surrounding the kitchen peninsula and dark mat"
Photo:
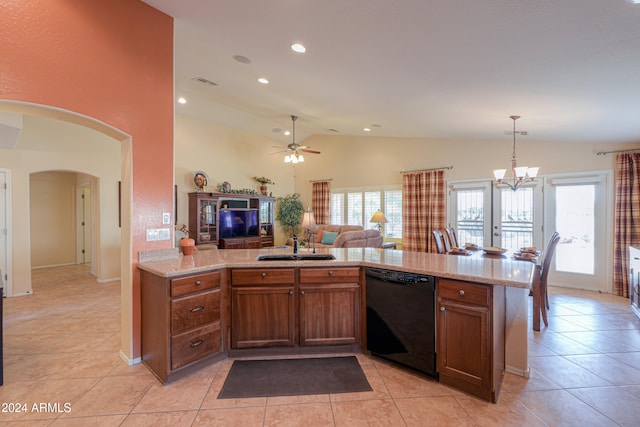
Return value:
M 168 386 L 121 361 L 119 283 L 71 266 L 35 270 L 33 288 L 4 299 L 3 425 L 640 425 L 640 320 L 628 299 L 552 289 L 550 325 L 529 335 L 531 377 L 507 374 L 497 404 L 364 355 L 371 392 L 218 400 L 231 361 Z

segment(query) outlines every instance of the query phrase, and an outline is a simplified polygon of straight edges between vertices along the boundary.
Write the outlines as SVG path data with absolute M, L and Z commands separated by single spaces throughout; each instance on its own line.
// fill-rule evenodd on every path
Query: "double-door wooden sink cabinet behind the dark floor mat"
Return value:
M 359 344 L 359 277 L 350 267 L 232 270 L 231 348 Z

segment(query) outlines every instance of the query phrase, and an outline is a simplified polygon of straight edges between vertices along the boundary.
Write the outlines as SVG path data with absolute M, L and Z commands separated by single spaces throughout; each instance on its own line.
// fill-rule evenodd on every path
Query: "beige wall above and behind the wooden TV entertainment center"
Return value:
M 258 191 L 259 184 L 251 177 L 271 178 L 269 186 L 274 197 L 295 191 L 293 169 L 283 162 L 284 155 L 273 154 L 280 141 L 247 132 L 207 123 L 191 117 L 177 115 L 175 124 L 175 180 L 178 186 L 178 225 L 189 224 L 188 193 L 195 191 L 193 174 L 202 170 L 209 176 L 210 191 L 228 181 L 232 189 L 251 188 Z M 286 238 L 276 228 L 276 245 Z

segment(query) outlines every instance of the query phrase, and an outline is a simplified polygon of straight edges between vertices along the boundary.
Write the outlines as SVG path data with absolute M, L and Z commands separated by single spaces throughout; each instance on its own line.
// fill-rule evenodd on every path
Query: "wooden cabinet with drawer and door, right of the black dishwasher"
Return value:
M 504 375 L 504 287 L 439 279 L 440 381 L 496 402 Z

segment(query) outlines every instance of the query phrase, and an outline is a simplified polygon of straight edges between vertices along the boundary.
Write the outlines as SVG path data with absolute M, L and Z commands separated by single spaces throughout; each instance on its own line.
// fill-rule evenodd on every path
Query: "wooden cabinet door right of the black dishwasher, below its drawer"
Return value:
M 486 306 L 442 299 L 438 310 L 438 372 L 445 383 L 491 387 L 490 313 Z M 471 391 L 473 392 L 473 391 Z

